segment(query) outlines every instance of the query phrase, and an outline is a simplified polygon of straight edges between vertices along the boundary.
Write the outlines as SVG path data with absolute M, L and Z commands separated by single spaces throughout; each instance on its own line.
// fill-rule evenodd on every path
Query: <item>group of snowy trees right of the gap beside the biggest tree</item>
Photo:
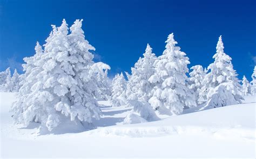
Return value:
M 173 33 L 167 38 L 163 55 L 157 57 L 147 44 L 143 57 L 131 69 L 131 75 L 118 74 L 112 81 L 113 106 L 122 105 L 126 99 L 145 100 L 160 112 L 179 114 L 184 109 L 205 104 L 219 107 L 241 103 L 244 95 L 256 91 L 256 67 L 251 84 L 245 77 L 242 86 L 233 69 L 231 57 L 225 54 L 219 37 L 214 62 L 207 68 L 197 65 L 187 77 L 189 59 L 181 52 Z

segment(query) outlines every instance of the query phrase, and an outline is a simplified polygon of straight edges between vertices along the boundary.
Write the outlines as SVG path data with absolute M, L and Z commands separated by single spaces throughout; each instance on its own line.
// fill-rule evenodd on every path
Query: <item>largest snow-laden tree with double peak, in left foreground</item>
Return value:
M 82 20 L 76 20 L 68 35 L 65 19 L 57 29 L 53 26 L 44 53 L 36 61 L 38 66 L 28 75 L 35 82 L 32 86 L 24 83 L 20 91 L 28 93 L 12 108 L 17 123 L 28 126 L 40 122 L 51 131 L 67 118 L 89 123 L 93 116 L 99 119 L 100 110 L 92 95 L 95 88 L 91 88 L 95 84 L 89 74 L 93 64 L 89 51 L 95 48 L 84 39 L 81 27 Z

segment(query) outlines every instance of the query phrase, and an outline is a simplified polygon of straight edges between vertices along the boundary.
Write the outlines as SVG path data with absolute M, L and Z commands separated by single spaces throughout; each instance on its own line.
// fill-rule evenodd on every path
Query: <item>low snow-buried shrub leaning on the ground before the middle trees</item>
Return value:
M 133 109 L 124 119 L 123 124 L 137 124 L 140 122 L 159 120 L 151 105 L 145 100 L 128 100 Z

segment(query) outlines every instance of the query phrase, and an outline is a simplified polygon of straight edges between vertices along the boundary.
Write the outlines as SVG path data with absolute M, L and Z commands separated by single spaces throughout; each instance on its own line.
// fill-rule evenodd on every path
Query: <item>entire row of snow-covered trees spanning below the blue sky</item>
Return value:
M 224 53 L 219 37 L 214 62 L 207 68 L 193 66 L 174 40 L 167 38 L 163 55 L 156 56 L 148 44 L 142 58 L 134 64 L 131 75 L 117 74 L 109 84 L 110 66 L 93 62 L 95 48 L 85 40 L 82 21 L 69 28 L 52 25 L 43 47 L 37 42 L 35 55 L 25 57 L 24 74 L 10 69 L 0 73 L 1 91 L 18 91 L 12 106 L 17 124 L 39 122 L 51 131 L 65 121 L 92 123 L 101 111 L 97 100 L 110 99 L 112 106 L 133 106 L 125 123 L 157 120 L 154 110 L 179 114 L 184 109 L 204 104 L 219 107 L 241 103 L 244 95 L 256 94 L 256 67 L 249 83 L 242 86 L 233 69 L 231 57 Z

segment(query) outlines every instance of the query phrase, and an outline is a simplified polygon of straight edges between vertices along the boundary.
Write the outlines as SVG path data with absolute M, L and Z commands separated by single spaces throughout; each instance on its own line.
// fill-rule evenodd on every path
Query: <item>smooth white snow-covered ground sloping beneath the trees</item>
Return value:
M 133 125 L 122 125 L 131 108 L 99 102 L 103 117 L 95 121 L 97 129 L 45 135 L 38 135 L 37 124 L 12 124 L 14 100 L 15 93 L 0 93 L 0 158 L 255 158 L 255 96 L 246 97 L 244 104 L 199 107 L 172 117 L 158 114 L 159 121 Z

